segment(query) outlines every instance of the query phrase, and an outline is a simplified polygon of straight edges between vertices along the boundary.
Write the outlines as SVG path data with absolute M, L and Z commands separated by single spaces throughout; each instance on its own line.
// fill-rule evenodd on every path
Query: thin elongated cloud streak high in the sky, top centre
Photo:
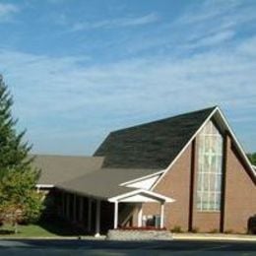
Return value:
M 156 23 L 159 21 L 159 16 L 157 14 L 148 14 L 141 17 L 130 17 L 130 18 L 119 18 L 119 19 L 109 19 L 94 22 L 80 22 L 73 25 L 71 31 L 87 31 L 96 29 L 116 29 L 124 27 L 136 27 L 147 24 Z

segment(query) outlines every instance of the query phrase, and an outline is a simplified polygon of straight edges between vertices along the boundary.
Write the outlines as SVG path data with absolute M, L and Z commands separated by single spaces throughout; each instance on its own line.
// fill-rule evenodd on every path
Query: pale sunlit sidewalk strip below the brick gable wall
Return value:
M 256 235 L 225 233 L 172 233 L 174 240 L 254 241 Z

